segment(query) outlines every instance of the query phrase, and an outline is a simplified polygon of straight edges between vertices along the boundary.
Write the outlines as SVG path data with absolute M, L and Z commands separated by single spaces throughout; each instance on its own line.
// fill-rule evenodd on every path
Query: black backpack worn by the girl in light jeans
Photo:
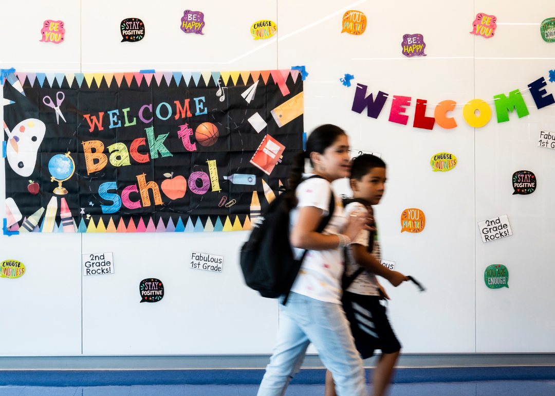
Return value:
M 311 178 L 323 179 L 314 175 L 303 181 Z M 326 228 L 334 209 L 335 198 L 331 192 L 329 213 L 316 232 L 321 233 Z M 240 263 L 245 283 L 262 297 L 284 295 L 285 305 L 306 252 L 299 260 L 295 259 L 289 242 L 289 210 L 285 207 L 285 194 L 280 194 L 252 225 L 249 240 L 241 248 Z

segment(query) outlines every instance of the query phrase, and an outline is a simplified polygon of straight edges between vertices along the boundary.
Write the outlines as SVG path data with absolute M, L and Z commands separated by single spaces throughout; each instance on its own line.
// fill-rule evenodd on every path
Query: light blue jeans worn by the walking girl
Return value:
M 299 372 L 306 348 L 313 343 L 334 375 L 339 396 L 366 396 L 364 367 L 341 304 L 291 292 L 280 302 L 279 333 L 258 396 L 282 396 Z

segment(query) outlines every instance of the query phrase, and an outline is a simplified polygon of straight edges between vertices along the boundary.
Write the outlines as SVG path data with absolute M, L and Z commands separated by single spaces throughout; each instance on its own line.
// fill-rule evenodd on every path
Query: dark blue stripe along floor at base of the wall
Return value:
M 371 369 L 366 370 L 371 380 Z M 246 370 L 0 370 L 0 385 L 48 387 L 99 385 L 259 384 L 264 369 Z M 400 368 L 393 383 L 555 380 L 555 366 Z M 324 384 L 324 369 L 301 369 L 292 384 Z

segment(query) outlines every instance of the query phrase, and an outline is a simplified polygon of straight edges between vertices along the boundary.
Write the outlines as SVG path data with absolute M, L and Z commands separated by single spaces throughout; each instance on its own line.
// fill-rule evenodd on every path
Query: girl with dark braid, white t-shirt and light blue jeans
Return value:
M 341 307 L 341 249 L 349 245 L 367 225 L 366 215 L 344 217 L 340 197 L 322 233 L 316 232 L 330 209 L 331 182 L 348 177 L 349 140 L 334 125 L 316 128 L 306 141 L 306 151 L 297 154 L 289 179 L 290 242 L 297 258 L 307 250 L 301 270 L 286 305 L 280 304 L 279 334 L 258 396 L 280 396 L 299 372 L 306 348 L 314 344 L 322 363 L 335 380 L 340 396 L 366 396 L 362 359 Z M 303 179 L 305 159 L 314 169 Z M 314 177 L 316 175 L 317 177 Z

